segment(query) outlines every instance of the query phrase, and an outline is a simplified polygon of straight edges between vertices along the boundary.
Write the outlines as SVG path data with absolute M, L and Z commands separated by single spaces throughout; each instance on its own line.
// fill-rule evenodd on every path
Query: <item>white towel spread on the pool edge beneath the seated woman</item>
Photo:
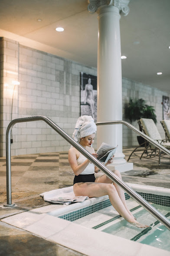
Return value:
M 58 197 L 73 198 L 75 196 L 75 194 L 73 192 L 73 186 L 67 187 L 67 188 L 62 188 L 62 189 L 54 189 L 54 190 L 51 190 L 48 192 L 44 192 L 40 195 L 43 197 L 44 201 L 52 202 L 52 203 L 59 203 L 59 204 L 63 204 L 63 202 L 59 202 L 54 199 L 56 199 Z M 72 203 L 72 202 L 64 202 L 64 205 L 69 205 L 70 203 Z

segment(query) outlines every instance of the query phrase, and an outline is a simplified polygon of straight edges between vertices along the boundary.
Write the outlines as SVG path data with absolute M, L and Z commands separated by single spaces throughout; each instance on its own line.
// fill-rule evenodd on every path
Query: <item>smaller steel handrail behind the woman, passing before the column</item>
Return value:
M 128 128 L 130 128 L 131 130 L 135 131 L 137 134 L 141 135 L 141 137 L 145 138 L 147 141 L 149 141 L 152 144 L 154 144 L 157 148 L 162 150 L 164 153 L 166 153 L 167 155 L 170 155 L 170 151 L 167 148 L 163 147 L 162 145 L 157 143 L 157 141 L 154 141 L 152 138 L 148 137 L 146 134 L 144 134 L 143 132 L 139 131 L 137 128 L 135 128 L 133 125 L 127 123 L 126 121 L 98 122 L 98 123 L 96 123 L 96 125 L 97 126 L 98 125 L 126 125 Z

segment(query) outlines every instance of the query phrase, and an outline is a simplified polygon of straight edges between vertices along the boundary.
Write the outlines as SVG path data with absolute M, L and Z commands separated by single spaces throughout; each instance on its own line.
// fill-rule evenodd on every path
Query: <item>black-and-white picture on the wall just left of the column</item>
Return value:
M 97 121 L 97 77 L 80 72 L 80 116 L 91 115 Z

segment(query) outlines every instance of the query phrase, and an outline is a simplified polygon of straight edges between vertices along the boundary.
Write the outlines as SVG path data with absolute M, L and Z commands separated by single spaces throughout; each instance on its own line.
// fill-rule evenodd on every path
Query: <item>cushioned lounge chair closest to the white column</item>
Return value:
M 153 119 L 148 119 L 148 118 L 141 118 L 138 120 L 139 127 L 141 128 L 140 130 L 152 138 L 154 141 L 157 141 L 159 144 L 161 144 L 163 147 L 167 148 L 170 150 L 170 142 L 167 142 L 166 139 L 162 139 L 160 136 L 160 133 L 157 129 L 157 126 L 155 125 Z M 143 146 L 144 148 L 141 148 Z M 139 154 L 141 152 L 141 154 Z M 165 155 L 159 148 L 155 147 L 152 143 L 149 141 L 144 141 L 141 145 L 139 145 L 137 148 L 131 152 L 131 155 L 127 159 L 129 161 L 130 158 L 154 158 L 153 160 L 159 161 L 160 164 L 160 157 Z

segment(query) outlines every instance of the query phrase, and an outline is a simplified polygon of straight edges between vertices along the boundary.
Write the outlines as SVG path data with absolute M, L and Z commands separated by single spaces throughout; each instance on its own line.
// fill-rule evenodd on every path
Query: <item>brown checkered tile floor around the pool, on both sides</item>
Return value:
M 128 158 L 132 148 L 123 148 Z M 124 182 L 170 188 L 170 159 L 132 159 L 132 171 L 124 172 Z M 40 193 L 71 186 L 74 178 L 68 152 L 14 156 L 11 159 L 12 201 L 15 206 L 4 208 L 6 202 L 6 160 L 0 158 L 0 219 L 33 208 L 48 205 Z M 31 233 L 0 222 L 0 255 L 82 255 L 56 245 Z M 36 248 L 36 249 L 35 249 Z

